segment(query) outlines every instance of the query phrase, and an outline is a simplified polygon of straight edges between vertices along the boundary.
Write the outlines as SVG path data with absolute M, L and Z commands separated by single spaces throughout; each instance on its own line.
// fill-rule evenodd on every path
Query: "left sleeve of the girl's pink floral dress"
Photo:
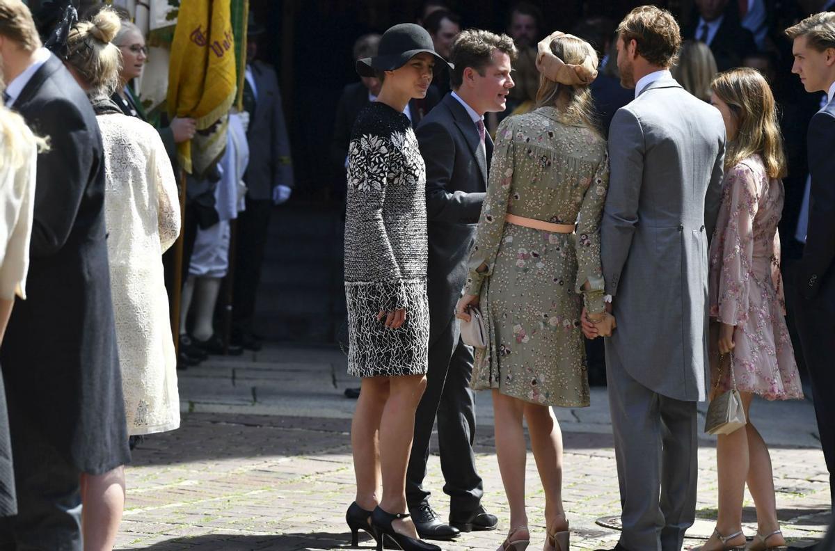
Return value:
M 720 243 L 711 258 L 711 265 L 720 267 L 717 317 L 731 326 L 741 325 L 748 319 L 748 279 L 754 254 L 757 203 L 757 176 L 745 164 L 737 164 L 727 175 L 714 234 Z

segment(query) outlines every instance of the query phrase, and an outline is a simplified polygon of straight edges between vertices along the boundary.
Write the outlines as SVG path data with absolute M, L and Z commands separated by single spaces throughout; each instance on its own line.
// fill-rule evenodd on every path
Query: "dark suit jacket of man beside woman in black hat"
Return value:
M 467 280 L 467 259 L 487 191 L 493 140 L 487 162 L 476 154 L 478 129 L 467 110 L 447 94 L 417 125 L 417 144 L 426 163 L 428 219 L 429 346 L 455 319 L 455 303 Z

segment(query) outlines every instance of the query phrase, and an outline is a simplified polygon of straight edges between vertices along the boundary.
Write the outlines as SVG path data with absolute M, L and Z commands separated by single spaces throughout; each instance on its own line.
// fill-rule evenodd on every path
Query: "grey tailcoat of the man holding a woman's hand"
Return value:
M 678 400 L 705 399 L 707 242 L 724 154 L 719 111 L 669 77 L 650 83 L 610 126 L 600 238 L 618 328 L 607 356 Z

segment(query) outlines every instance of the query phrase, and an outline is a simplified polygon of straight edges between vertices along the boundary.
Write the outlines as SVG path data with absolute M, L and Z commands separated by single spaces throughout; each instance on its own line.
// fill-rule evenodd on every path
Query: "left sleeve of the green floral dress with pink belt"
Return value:
M 504 215 L 508 212 L 510 185 L 514 179 L 514 117 L 502 121 L 496 131 L 493 160 L 490 163 L 490 178 L 487 196 L 478 219 L 475 245 L 470 251 L 469 273 L 464 293 L 479 295 L 483 279 L 493 273 L 498 255 L 499 241 L 504 230 Z M 481 265 L 487 270 L 478 271 Z

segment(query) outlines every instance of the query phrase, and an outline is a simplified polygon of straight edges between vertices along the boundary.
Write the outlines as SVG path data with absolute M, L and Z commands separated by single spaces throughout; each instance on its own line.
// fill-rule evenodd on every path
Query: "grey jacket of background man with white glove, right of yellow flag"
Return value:
M 250 145 L 246 195 L 253 200 L 271 200 L 276 185 L 293 187 L 290 140 L 275 69 L 260 61 L 251 63 L 251 67 L 257 99 L 255 114 L 246 129 Z

